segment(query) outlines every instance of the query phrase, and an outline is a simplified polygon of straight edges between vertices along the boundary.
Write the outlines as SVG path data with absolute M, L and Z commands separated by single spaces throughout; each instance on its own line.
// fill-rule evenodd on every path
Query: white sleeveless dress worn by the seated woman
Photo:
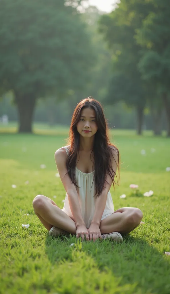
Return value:
M 69 149 L 68 149 L 69 146 L 64 146 L 64 148 L 66 149 L 67 155 L 69 155 Z M 81 171 L 79 171 L 78 168 L 76 168 L 75 177 L 76 177 L 77 186 L 80 187 L 76 189 L 78 193 L 81 214 L 82 214 L 84 223 L 86 225 L 86 228 L 89 228 L 94 216 L 95 201 L 96 201 L 96 198 L 94 197 L 95 195 L 95 186 L 93 182 L 94 171 L 92 171 L 91 173 L 82 173 Z M 93 182 L 93 185 L 92 185 L 92 182 Z M 67 193 L 66 193 L 66 198 L 65 198 L 64 207 L 62 211 L 64 211 L 69 217 L 74 219 L 71 213 L 70 206 L 69 206 L 69 199 L 68 199 Z M 107 216 L 110 216 L 113 212 L 114 212 L 114 205 L 113 205 L 113 200 L 111 198 L 111 193 L 109 191 L 109 193 L 107 194 L 106 206 L 105 206 L 104 213 L 102 215 L 101 220 L 103 220 Z

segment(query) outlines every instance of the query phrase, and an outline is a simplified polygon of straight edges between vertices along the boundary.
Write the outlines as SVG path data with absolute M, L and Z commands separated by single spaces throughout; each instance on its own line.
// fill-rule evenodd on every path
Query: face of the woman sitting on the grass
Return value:
M 94 136 L 98 130 L 98 127 L 96 124 L 96 114 L 94 109 L 84 108 L 81 111 L 81 116 L 76 127 L 77 127 L 78 133 L 84 138 Z M 85 132 L 85 131 L 89 131 L 89 132 Z

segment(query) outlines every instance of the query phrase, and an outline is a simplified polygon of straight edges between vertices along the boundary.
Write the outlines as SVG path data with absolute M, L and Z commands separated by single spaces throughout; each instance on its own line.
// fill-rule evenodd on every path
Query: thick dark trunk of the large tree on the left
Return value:
M 35 96 L 19 96 L 16 94 L 15 101 L 19 113 L 19 133 L 32 133 L 32 119 L 36 101 Z

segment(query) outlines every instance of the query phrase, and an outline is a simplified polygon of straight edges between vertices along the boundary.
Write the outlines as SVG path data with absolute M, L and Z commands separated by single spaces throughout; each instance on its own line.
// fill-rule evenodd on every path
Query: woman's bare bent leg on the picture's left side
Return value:
M 55 226 L 76 235 L 77 228 L 75 222 L 50 198 L 44 195 L 37 195 L 33 200 L 33 208 L 47 230 Z

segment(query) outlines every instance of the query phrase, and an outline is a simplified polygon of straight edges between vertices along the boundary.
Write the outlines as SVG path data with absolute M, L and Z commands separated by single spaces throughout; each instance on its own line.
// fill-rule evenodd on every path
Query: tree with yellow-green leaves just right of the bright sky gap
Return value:
M 101 17 L 99 28 L 113 52 L 108 101 L 122 100 L 128 106 L 135 106 L 138 134 L 142 131 L 143 111 L 149 96 L 138 68 L 141 46 L 134 35 L 150 8 L 143 0 L 122 0 L 111 14 Z

